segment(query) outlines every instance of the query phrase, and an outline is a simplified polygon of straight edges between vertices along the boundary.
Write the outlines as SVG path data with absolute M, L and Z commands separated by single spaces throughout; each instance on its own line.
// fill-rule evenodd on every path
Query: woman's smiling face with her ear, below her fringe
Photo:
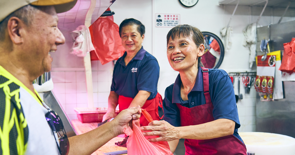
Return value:
M 189 37 L 175 37 L 167 44 L 167 58 L 175 71 L 186 71 L 192 67 L 198 68 L 198 58 L 204 54 L 204 45 L 199 47 L 194 43 L 192 35 Z

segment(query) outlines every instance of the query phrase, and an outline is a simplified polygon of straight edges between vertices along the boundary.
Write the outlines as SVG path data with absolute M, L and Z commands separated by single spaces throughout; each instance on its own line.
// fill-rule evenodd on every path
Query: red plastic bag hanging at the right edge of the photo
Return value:
M 292 73 L 295 72 L 295 38 L 289 43 L 284 43 L 284 54 L 279 70 Z

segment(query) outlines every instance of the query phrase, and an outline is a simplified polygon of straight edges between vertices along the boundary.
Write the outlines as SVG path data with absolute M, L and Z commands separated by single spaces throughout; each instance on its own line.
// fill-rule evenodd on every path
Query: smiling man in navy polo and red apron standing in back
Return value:
M 120 112 L 140 105 L 147 110 L 153 120 L 160 120 L 158 107 L 162 107 L 162 97 L 157 92 L 160 67 L 157 59 L 142 47 L 145 26 L 136 19 L 125 19 L 119 27 L 124 55 L 114 66 L 108 110 L 103 120 L 115 117 L 119 104 Z M 163 117 L 163 116 L 162 116 Z M 140 125 L 148 125 L 142 115 Z

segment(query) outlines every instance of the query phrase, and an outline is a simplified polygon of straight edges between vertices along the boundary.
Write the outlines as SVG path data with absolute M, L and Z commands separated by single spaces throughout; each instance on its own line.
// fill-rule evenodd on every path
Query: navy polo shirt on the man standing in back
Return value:
M 150 92 L 148 99 L 155 98 L 160 74 L 157 59 L 141 47 L 125 66 L 126 55 L 127 52 L 115 64 L 111 91 L 134 98 L 138 91 L 145 90 Z

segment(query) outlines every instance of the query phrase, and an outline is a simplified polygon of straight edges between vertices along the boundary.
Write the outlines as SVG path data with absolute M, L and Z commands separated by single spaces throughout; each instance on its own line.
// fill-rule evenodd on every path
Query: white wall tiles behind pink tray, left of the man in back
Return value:
M 91 61 L 94 107 L 107 107 L 112 84 L 113 62 L 101 65 Z M 87 89 L 83 68 L 53 68 L 53 92 L 70 120 L 77 119 L 75 107 L 87 107 Z

